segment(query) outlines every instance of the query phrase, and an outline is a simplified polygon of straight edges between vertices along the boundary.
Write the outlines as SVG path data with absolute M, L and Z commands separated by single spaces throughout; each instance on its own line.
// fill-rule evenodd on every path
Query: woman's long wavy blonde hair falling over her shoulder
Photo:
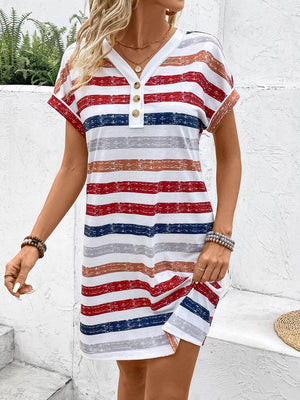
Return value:
M 140 0 L 88 0 L 90 16 L 81 25 L 76 36 L 76 47 L 68 60 L 68 68 L 80 71 L 75 84 L 67 95 L 86 85 L 93 73 L 101 69 L 104 57 L 112 50 L 115 36 L 130 22 L 132 11 Z M 168 22 L 175 25 L 178 13 L 168 15 Z M 110 48 L 104 53 L 102 43 L 108 37 Z

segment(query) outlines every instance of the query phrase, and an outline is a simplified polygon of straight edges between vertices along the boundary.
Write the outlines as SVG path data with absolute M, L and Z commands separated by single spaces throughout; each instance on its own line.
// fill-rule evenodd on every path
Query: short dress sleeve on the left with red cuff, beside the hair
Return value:
M 56 111 L 65 117 L 85 137 L 85 129 L 80 118 L 74 93 L 67 97 L 67 93 L 73 86 L 72 69 L 69 58 L 75 48 L 75 43 L 69 45 L 61 59 L 60 68 L 54 85 L 53 93 L 47 101 Z

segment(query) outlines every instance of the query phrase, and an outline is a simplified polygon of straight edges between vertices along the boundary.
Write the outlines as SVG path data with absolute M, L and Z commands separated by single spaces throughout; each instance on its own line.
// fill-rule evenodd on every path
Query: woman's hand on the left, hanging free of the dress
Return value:
M 32 286 L 25 283 L 29 271 L 33 268 L 34 264 L 39 258 L 38 249 L 35 246 L 24 246 L 21 248 L 19 253 L 6 264 L 4 285 L 7 287 L 8 291 L 15 297 L 20 299 L 21 294 L 28 293 L 32 290 Z M 15 293 L 13 288 L 16 283 L 18 289 Z M 18 288 L 19 286 L 19 288 Z

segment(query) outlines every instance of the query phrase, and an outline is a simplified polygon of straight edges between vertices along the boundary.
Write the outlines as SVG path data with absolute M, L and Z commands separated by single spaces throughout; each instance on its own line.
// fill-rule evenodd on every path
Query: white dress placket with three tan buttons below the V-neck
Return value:
M 129 127 L 144 126 L 143 85 L 136 80 L 130 85 Z

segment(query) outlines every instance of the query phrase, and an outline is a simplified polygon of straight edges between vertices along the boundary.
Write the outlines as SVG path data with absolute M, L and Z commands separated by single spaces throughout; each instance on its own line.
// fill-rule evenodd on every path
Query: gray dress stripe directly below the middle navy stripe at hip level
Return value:
M 85 257 L 98 257 L 104 254 L 130 253 L 143 254 L 147 257 L 154 257 L 155 254 L 164 251 L 175 251 L 184 253 L 200 252 L 203 249 L 203 243 L 156 243 L 154 246 L 135 245 L 131 243 L 110 243 L 103 246 L 83 247 Z

